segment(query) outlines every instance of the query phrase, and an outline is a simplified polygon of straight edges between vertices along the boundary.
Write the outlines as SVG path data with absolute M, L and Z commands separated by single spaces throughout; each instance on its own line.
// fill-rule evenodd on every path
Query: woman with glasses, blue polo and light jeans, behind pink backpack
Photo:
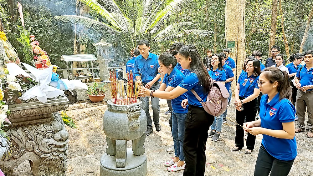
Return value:
M 220 81 L 223 84 L 226 82 L 226 72 L 222 68 L 222 57 L 219 54 L 213 54 L 211 57 L 211 64 L 208 65 L 208 73 L 215 81 Z M 208 133 L 208 138 L 212 137 L 212 141 L 217 141 L 220 138 L 222 131 L 223 114 L 214 117 L 213 124 L 210 126 L 211 132 Z

